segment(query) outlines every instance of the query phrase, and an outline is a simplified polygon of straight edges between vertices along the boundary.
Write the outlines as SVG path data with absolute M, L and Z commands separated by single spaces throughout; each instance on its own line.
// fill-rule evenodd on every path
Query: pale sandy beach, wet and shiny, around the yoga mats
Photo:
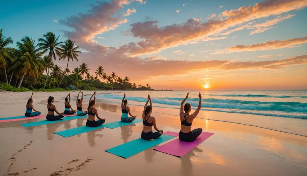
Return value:
M 98 94 L 112 92 L 99 91 Z M 84 91 L 84 95 L 92 93 Z M 67 94 L 34 93 L 34 107 L 46 114 L 47 98 L 52 95 L 57 109 L 63 111 Z M 78 92 L 71 94 L 71 104 L 76 108 L 75 96 Z M 30 92 L 1 92 L 0 118 L 23 115 L 30 96 Z M 84 110 L 86 107 L 87 101 L 84 101 Z M 106 118 L 106 123 L 118 121 L 121 117 L 120 106 L 97 102 L 96 107 L 99 115 Z M 130 108 L 132 114 L 141 118 L 142 107 Z M 170 114 L 177 113 L 177 110 L 170 111 Z M 180 130 L 178 117 L 154 112 L 152 115 L 157 119 L 159 129 Z M 227 115 L 222 112 L 207 114 L 208 117 Z M 244 118 L 242 114 L 235 115 Z M 27 128 L 20 125 L 41 120 L 45 119 L 0 123 L 1 175 L 307 175 L 307 138 L 303 136 L 195 119 L 193 128 L 202 127 L 204 131 L 215 134 L 182 158 L 150 148 L 124 159 L 105 150 L 140 138 L 142 123 L 116 129 L 102 128 L 69 138 L 53 132 L 83 126 L 86 118 Z

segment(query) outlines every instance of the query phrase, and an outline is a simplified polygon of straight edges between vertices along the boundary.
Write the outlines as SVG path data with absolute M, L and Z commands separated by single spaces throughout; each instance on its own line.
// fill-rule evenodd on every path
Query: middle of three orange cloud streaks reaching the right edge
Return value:
M 225 50 L 219 50 L 212 54 L 225 54 L 232 52 L 243 52 L 243 51 L 258 51 L 258 50 L 275 50 L 281 48 L 292 48 L 300 46 L 300 44 L 307 42 L 307 36 L 302 38 L 291 38 L 288 40 L 273 40 L 264 43 L 255 43 L 252 45 L 237 45 L 231 46 Z

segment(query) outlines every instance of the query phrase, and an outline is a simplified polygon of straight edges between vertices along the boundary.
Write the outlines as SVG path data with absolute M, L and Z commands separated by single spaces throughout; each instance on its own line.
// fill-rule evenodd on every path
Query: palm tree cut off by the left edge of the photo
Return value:
M 6 84 L 8 84 L 6 75 L 6 58 L 10 59 L 11 62 L 14 62 L 13 58 L 11 57 L 10 51 L 15 50 L 14 48 L 6 48 L 6 46 L 12 43 L 13 39 L 10 37 L 5 38 L 5 36 L 2 34 L 2 29 L 0 29 L 0 68 L 4 68 Z

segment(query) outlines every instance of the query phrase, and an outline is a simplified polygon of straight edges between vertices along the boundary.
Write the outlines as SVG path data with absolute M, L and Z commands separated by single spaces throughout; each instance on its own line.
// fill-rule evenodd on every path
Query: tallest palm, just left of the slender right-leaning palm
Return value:
M 49 50 L 49 54 L 48 54 L 48 57 L 49 57 L 49 66 L 48 66 L 48 71 L 47 72 L 47 78 L 46 78 L 46 82 L 45 82 L 45 86 L 46 86 L 46 83 L 48 81 L 48 77 L 49 77 L 49 69 L 51 68 L 51 61 L 52 61 L 52 58 L 54 60 L 56 60 L 56 55 L 58 55 L 60 57 L 61 55 L 61 49 L 58 48 L 57 46 L 59 46 L 62 42 L 58 42 L 59 40 L 59 37 L 56 37 L 56 34 L 52 33 L 52 32 L 47 32 L 47 34 L 44 34 L 43 35 L 43 38 L 39 38 L 38 41 L 40 42 L 38 44 L 39 47 L 39 50 L 43 50 L 42 53 L 45 53 Z M 45 89 L 45 86 L 43 89 Z

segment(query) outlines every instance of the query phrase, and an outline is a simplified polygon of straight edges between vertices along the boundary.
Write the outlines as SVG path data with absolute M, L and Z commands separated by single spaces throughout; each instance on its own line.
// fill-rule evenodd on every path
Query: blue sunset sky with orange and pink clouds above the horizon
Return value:
M 47 32 L 131 83 L 171 90 L 307 90 L 307 0 L 11 0 L 0 28 Z M 56 61 L 63 70 L 67 60 Z

